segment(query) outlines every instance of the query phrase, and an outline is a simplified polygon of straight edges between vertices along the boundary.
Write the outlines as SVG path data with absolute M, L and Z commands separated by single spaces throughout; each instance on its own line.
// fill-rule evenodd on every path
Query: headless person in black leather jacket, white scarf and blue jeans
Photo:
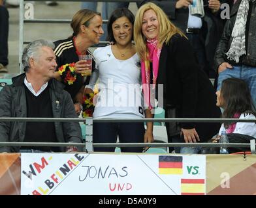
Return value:
M 219 73 L 217 90 L 223 80 L 244 79 L 256 105 L 256 1 L 238 0 L 232 6 L 231 18 L 215 53 L 215 68 Z

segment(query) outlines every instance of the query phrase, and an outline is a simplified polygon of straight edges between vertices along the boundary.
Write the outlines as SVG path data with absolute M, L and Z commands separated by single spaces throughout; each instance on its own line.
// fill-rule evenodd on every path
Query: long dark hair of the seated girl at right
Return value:
M 223 100 L 223 118 L 233 118 L 237 113 L 252 113 L 256 115 L 255 106 L 247 83 L 238 78 L 228 78 L 221 85 L 221 99 Z M 230 123 L 226 123 L 229 125 Z

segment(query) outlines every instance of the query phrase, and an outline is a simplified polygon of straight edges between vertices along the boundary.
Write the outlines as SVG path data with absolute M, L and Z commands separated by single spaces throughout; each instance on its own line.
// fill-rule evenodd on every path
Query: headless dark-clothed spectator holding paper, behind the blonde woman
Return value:
M 150 0 L 142 1 L 142 5 Z M 193 46 L 199 66 L 216 78 L 214 53 L 223 31 L 219 0 L 155 0 L 172 23 L 185 32 Z

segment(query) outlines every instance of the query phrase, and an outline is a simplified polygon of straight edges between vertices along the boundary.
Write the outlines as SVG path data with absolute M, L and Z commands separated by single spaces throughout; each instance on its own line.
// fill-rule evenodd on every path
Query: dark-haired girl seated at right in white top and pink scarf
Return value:
M 255 107 L 247 83 L 242 79 L 228 78 L 216 92 L 217 106 L 224 109 L 222 118 L 255 119 Z M 239 133 L 256 138 L 256 123 L 223 123 L 219 130 L 226 133 Z

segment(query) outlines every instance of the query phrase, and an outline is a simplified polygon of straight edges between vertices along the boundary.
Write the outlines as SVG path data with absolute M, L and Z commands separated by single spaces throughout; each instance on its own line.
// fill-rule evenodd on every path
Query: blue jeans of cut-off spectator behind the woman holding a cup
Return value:
M 81 8 L 87 8 L 89 10 L 97 11 L 97 2 L 82 2 Z M 103 19 L 107 19 L 106 16 L 106 3 L 103 2 L 103 8 L 101 12 L 101 17 Z M 108 34 L 108 29 L 106 27 L 106 23 L 103 23 L 103 31 L 104 34 L 101 36 L 101 41 L 106 40 L 106 36 Z

